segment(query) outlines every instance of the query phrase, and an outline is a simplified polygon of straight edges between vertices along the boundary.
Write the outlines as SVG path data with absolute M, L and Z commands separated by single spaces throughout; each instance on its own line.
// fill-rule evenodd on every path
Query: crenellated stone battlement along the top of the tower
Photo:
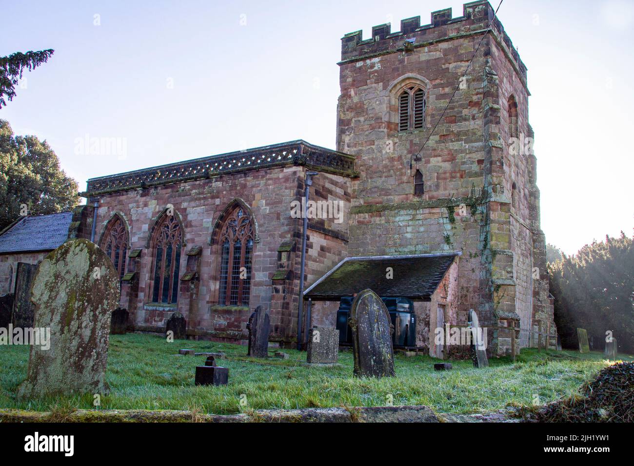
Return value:
M 424 47 L 436 42 L 448 41 L 456 37 L 468 37 L 483 34 L 494 17 L 495 10 L 488 1 L 465 3 L 462 16 L 452 18 L 451 8 L 433 11 L 431 22 L 420 25 L 420 16 L 401 20 L 401 30 L 391 32 L 391 24 L 380 24 L 372 27 L 372 37 L 363 40 L 363 31 L 350 32 L 341 39 L 341 62 L 365 60 L 373 56 L 386 55 L 405 51 L 404 42 L 411 48 Z M 517 72 L 526 81 L 526 65 L 519 57 L 513 42 L 504 31 L 502 23 L 495 18 L 491 30 L 506 49 L 508 57 L 517 67 Z M 503 44 L 503 45 L 502 45 Z

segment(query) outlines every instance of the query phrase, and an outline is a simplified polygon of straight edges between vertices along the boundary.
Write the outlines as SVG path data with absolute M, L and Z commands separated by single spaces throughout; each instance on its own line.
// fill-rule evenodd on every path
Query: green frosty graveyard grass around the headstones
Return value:
M 200 352 L 222 351 L 229 359 L 229 385 L 197 387 L 195 366 L 204 356 L 176 356 L 181 348 Z M 269 349 L 269 356 L 275 350 Z M 453 370 L 435 372 L 429 356 L 406 358 L 397 354 L 396 377 L 353 377 L 353 355 L 339 353 L 339 366 L 307 367 L 306 353 L 281 350 L 289 359 L 247 358 L 246 346 L 207 341 L 169 343 L 153 335 L 110 335 L 106 380 L 110 394 L 101 397 L 101 409 L 190 410 L 230 414 L 259 409 L 309 407 L 427 405 L 439 413 L 483 413 L 507 405 L 531 406 L 570 396 L 611 361 L 602 353 L 524 349 L 515 363 L 490 359 L 489 368 L 475 369 L 471 361 L 451 361 Z M 619 355 L 631 360 L 631 356 Z M 29 347 L 0 346 L 0 408 L 37 411 L 93 409 L 93 395 L 51 396 L 16 401 L 18 384 L 27 375 Z M 241 394 L 247 406 L 240 406 Z

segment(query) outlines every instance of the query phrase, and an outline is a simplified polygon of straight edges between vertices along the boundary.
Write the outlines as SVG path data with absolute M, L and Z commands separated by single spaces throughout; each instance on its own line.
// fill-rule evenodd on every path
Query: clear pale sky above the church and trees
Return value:
M 427 24 L 448 7 L 462 15 L 452 0 L 1 3 L 0 56 L 55 55 L 0 118 L 46 139 L 81 190 L 293 139 L 335 148 L 340 38 L 410 16 Z M 634 1 L 505 0 L 498 17 L 528 68 L 547 242 L 573 254 L 606 233 L 631 236 Z M 86 135 L 120 138 L 125 157 L 76 153 Z

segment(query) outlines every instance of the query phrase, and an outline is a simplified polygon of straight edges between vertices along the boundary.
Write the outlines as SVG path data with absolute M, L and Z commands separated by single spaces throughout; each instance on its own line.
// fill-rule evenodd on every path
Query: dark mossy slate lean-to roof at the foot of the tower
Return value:
M 314 301 L 339 301 L 370 288 L 379 296 L 429 301 L 460 252 L 416 256 L 347 257 L 304 292 Z M 393 278 L 386 269 L 392 268 Z

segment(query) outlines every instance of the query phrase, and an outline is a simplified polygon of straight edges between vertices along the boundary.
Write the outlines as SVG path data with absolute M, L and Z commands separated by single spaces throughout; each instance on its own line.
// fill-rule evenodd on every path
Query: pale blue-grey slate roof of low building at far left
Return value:
M 72 218 L 72 212 L 23 217 L 0 235 L 0 254 L 56 249 L 68 239 Z

